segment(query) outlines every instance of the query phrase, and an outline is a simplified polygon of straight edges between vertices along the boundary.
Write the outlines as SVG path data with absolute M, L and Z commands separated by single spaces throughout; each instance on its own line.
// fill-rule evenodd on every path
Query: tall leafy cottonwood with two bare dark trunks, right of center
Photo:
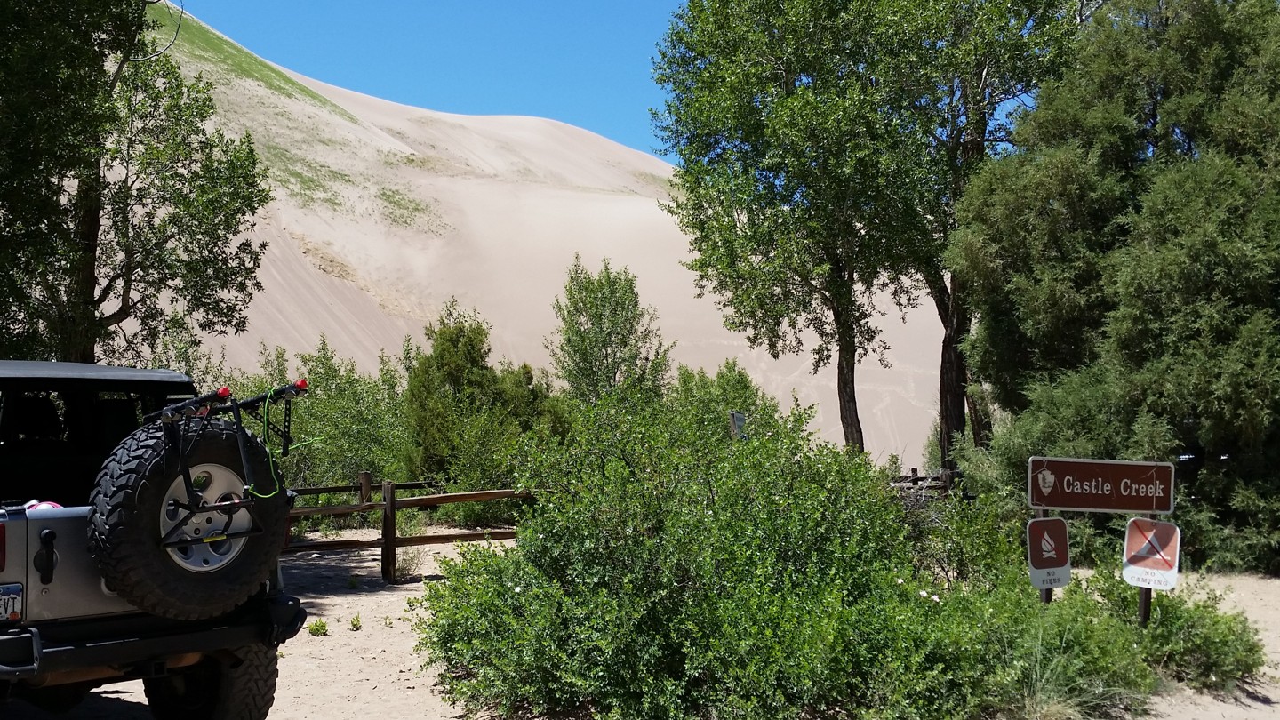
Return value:
M 970 323 L 942 265 L 955 202 L 1073 24 L 1048 1 L 690 0 L 676 14 L 655 63 L 669 94 L 655 123 L 677 159 L 669 209 L 698 287 L 771 355 L 815 334 L 814 369 L 836 360 L 849 446 L 864 446 L 858 364 L 884 348 L 873 297 L 905 307 L 923 286 L 945 333 L 950 464 Z

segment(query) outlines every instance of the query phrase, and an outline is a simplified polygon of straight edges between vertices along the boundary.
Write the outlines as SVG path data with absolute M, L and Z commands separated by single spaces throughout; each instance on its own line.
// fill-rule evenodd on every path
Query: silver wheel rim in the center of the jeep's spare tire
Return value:
M 225 465 L 196 465 L 191 469 L 191 479 L 204 500 L 201 506 L 214 502 L 227 502 L 244 497 L 244 480 Z M 187 515 L 177 503 L 187 502 L 187 487 L 179 474 L 169 484 L 169 492 L 160 505 L 160 537 L 169 534 Z M 230 520 L 230 524 L 228 524 Z M 168 548 L 169 557 L 179 566 L 192 573 L 212 573 L 236 559 L 244 550 L 248 538 L 221 538 L 224 534 L 242 533 L 253 527 L 248 510 L 238 509 L 230 516 L 224 512 L 198 512 L 182 524 L 173 539 L 197 541 L 184 547 Z

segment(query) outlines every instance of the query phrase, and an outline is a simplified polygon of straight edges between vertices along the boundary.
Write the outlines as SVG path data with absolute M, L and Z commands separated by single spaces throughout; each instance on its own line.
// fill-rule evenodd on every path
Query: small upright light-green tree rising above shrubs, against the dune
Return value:
M 575 255 L 553 309 L 559 327 L 547 350 L 570 397 L 594 402 L 618 388 L 662 395 L 672 346 L 662 342 L 653 307 L 640 305 L 630 270 L 605 259 L 593 274 Z

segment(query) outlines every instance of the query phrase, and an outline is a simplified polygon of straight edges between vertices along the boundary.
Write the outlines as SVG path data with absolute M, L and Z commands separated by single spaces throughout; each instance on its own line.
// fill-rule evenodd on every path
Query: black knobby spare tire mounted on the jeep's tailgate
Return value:
M 180 437 L 202 506 L 250 495 L 232 423 L 198 418 Z M 284 547 L 288 497 L 262 443 L 250 436 L 247 450 L 256 483 L 252 507 L 188 516 L 177 506 L 187 502 L 187 491 L 164 428 L 155 423 L 124 438 L 90 498 L 90 551 L 108 589 L 174 620 L 216 618 L 259 592 Z M 196 542 L 161 547 L 166 534 Z

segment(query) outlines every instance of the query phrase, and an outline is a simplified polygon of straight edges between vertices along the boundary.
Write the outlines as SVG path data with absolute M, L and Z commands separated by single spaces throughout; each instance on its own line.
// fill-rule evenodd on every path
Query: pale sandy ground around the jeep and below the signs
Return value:
M 374 537 L 372 533 L 356 530 L 344 537 Z M 421 592 L 422 582 L 439 582 L 438 559 L 442 556 L 456 556 L 456 551 L 447 546 L 421 548 L 416 559 L 410 559 L 417 569 L 415 577 L 398 585 L 383 583 L 378 551 L 285 557 L 285 582 L 303 598 L 312 619 L 325 620 L 329 635 L 312 637 L 303 630 L 282 647 L 280 683 L 271 719 L 460 717 L 460 712 L 436 694 L 434 673 L 422 670 L 422 657 L 413 652 L 416 635 L 406 612 L 406 601 Z M 1271 664 L 1267 676 L 1233 697 L 1197 694 L 1174 685 L 1155 700 L 1152 716 L 1165 720 L 1280 719 L 1280 579 L 1215 575 L 1207 584 L 1225 592 L 1228 606 L 1244 610 L 1258 625 Z M 357 614 L 361 619 L 358 632 L 351 626 Z M 151 715 L 142 696 L 142 683 L 132 682 L 100 688 L 65 715 L 49 715 L 15 702 L 0 708 L 0 717 L 150 720 Z

